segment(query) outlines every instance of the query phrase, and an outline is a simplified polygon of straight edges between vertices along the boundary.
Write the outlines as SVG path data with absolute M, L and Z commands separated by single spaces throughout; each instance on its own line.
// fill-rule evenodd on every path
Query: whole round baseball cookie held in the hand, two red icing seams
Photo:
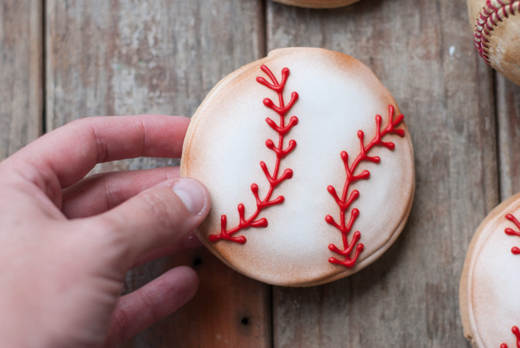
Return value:
M 199 238 L 239 272 L 311 286 L 376 260 L 414 190 L 408 128 L 358 60 L 284 48 L 229 74 L 193 115 L 181 174 L 210 190 Z

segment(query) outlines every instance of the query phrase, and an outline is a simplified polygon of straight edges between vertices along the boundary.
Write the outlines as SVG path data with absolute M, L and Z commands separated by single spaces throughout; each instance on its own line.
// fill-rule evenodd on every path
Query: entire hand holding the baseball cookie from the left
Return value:
M 96 163 L 180 157 L 189 120 L 74 121 L 0 163 L 0 337 L 4 347 L 112 346 L 197 291 L 189 267 L 119 297 L 127 269 L 198 244 L 209 207 L 165 167 L 83 178 Z

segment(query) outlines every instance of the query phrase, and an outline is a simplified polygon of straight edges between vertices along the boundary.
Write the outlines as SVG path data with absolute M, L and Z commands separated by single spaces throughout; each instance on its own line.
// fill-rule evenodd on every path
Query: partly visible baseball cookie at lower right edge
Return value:
M 459 299 L 473 347 L 520 346 L 520 194 L 478 226 L 464 261 Z

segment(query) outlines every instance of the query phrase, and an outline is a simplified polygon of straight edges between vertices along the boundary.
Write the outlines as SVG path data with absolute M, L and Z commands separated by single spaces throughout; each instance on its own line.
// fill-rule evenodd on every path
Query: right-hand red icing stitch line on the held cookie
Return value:
M 395 129 L 395 126 L 397 126 L 399 123 L 401 123 L 401 121 L 404 119 L 404 116 L 401 114 L 401 115 L 398 115 L 395 120 L 393 120 L 393 118 L 394 118 L 394 107 L 392 105 L 389 105 L 388 106 L 388 125 L 386 126 L 386 128 L 384 128 L 383 132 L 381 132 L 381 115 L 375 115 L 376 133 L 375 133 L 374 138 L 370 141 L 370 143 L 367 146 L 365 146 L 363 144 L 363 137 L 365 135 L 363 134 L 362 131 L 358 131 L 357 136 L 359 138 L 359 143 L 360 143 L 360 153 L 358 154 L 358 156 L 356 157 L 356 159 L 354 160 L 352 165 L 350 165 L 350 167 L 348 166 L 347 152 L 346 151 L 341 152 L 341 159 L 343 160 L 343 164 L 345 166 L 345 172 L 347 174 L 345 185 L 343 186 L 343 194 L 341 196 L 341 199 L 339 196 L 337 196 L 336 190 L 332 185 L 329 185 L 327 187 L 327 191 L 329 191 L 331 196 L 336 201 L 336 204 L 340 207 L 340 223 L 339 224 L 336 223 L 334 221 L 334 218 L 330 215 L 327 215 L 325 217 L 325 221 L 328 224 L 336 227 L 337 229 L 339 229 L 341 231 L 344 250 L 340 250 L 334 244 L 329 244 L 329 250 L 331 250 L 337 254 L 340 254 L 342 256 L 345 256 L 345 261 L 338 260 L 335 257 L 330 257 L 329 258 L 330 263 L 343 265 L 347 268 L 352 268 L 352 267 L 354 267 L 354 265 L 359 257 L 359 254 L 365 248 L 362 243 L 359 243 L 356 246 L 356 243 L 361 238 L 361 233 L 359 233 L 359 231 L 356 231 L 354 233 L 350 243 L 348 242 L 348 239 L 347 239 L 350 229 L 352 229 L 352 226 L 354 225 L 357 217 L 359 216 L 359 210 L 354 208 L 350 212 L 350 219 L 349 219 L 348 223 L 345 223 L 345 212 L 348 210 L 350 205 L 356 199 L 359 198 L 359 191 L 353 190 L 352 192 L 350 192 L 350 196 L 348 196 L 348 199 L 347 199 L 348 189 L 349 189 L 350 184 L 352 184 L 360 179 L 368 179 L 370 176 L 370 173 L 367 170 L 362 171 L 358 175 L 354 174 L 358 164 L 361 161 L 370 161 L 373 163 L 379 163 L 379 161 L 381 160 L 378 156 L 370 157 L 367 155 L 367 153 L 374 146 L 384 146 L 389 150 L 393 150 L 395 148 L 394 143 L 385 143 L 384 141 L 381 140 L 386 134 L 393 133 L 393 134 L 399 135 L 400 137 L 405 136 L 404 130 Z M 354 247 L 356 247 L 356 252 L 354 254 L 354 257 L 350 257 L 350 254 L 352 253 Z

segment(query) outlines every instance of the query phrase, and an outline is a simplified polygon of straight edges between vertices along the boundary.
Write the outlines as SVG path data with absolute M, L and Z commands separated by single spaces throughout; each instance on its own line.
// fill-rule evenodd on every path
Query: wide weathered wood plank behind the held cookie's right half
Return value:
M 329 285 L 274 288 L 276 347 L 468 346 L 459 277 L 499 195 L 492 74 L 466 17 L 451 0 L 321 11 L 268 3 L 268 50 L 324 47 L 374 70 L 405 114 L 417 171 L 407 227 L 380 260 Z

